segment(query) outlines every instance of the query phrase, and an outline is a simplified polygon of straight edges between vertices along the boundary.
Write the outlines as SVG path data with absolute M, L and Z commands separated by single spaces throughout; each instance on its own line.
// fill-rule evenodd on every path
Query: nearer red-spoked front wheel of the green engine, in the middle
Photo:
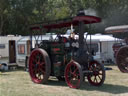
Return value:
M 65 71 L 65 80 L 70 88 L 78 88 L 80 86 L 80 70 L 75 62 L 67 65 Z

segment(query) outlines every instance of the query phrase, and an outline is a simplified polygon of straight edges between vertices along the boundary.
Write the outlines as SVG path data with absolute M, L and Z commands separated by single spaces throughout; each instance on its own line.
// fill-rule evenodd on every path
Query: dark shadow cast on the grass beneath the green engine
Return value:
M 49 80 L 46 85 L 49 86 L 67 86 L 65 81 L 57 81 L 57 80 Z M 128 93 L 128 87 L 123 85 L 113 85 L 113 84 L 103 84 L 100 87 L 92 86 L 87 82 L 83 82 L 80 89 L 77 90 L 86 90 L 86 91 L 100 91 L 100 92 L 107 92 L 111 94 L 121 94 L 121 93 Z

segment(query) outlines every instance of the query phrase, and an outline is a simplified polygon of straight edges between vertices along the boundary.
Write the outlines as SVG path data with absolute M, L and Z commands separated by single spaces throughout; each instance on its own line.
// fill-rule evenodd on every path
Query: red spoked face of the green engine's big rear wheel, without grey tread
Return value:
M 29 59 L 29 73 L 35 83 L 42 83 L 45 75 L 45 60 L 40 50 L 34 50 Z

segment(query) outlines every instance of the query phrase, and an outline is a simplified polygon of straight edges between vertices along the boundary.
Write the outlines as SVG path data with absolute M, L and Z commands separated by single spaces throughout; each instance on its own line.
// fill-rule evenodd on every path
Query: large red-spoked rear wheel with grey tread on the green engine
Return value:
M 51 62 L 47 52 L 35 49 L 29 58 L 29 73 L 34 83 L 46 83 L 51 72 Z

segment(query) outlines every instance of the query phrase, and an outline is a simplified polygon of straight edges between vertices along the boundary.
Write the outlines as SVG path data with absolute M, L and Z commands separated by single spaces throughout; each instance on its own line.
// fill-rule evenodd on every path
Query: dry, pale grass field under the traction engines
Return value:
M 117 66 L 106 72 L 101 87 L 84 82 L 80 89 L 71 89 L 65 82 L 50 77 L 47 84 L 35 84 L 29 73 L 15 70 L 0 73 L 0 96 L 128 96 L 128 74 L 121 73 Z

